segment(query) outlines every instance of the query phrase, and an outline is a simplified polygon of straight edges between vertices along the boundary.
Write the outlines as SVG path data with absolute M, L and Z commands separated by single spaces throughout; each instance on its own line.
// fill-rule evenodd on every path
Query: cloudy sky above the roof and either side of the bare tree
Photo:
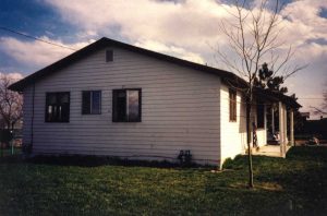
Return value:
M 227 0 L 1 0 L 0 73 L 28 75 L 104 36 L 227 69 L 215 49 L 227 49 L 219 23 L 233 9 Z M 308 111 L 327 88 L 327 1 L 287 1 L 280 19 L 281 39 L 294 50 L 291 63 L 308 64 L 287 80 L 289 94 Z

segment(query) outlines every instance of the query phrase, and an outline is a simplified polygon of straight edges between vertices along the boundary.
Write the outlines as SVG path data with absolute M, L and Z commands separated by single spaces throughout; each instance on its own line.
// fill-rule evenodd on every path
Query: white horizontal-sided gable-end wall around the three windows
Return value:
M 34 153 L 175 159 L 191 149 L 202 164 L 220 164 L 220 79 L 173 63 L 105 49 L 35 85 Z M 113 123 L 112 89 L 142 88 L 142 122 Z M 82 116 L 82 91 L 101 89 L 101 115 Z M 71 93 L 70 122 L 46 123 L 46 92 Z M 31 142 L 32 87 L 24 91 L 24 142 Z

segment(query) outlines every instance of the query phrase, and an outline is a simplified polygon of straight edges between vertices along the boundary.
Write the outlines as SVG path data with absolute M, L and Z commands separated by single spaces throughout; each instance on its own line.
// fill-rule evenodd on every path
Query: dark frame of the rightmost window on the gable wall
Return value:
M 137 91 L 138 92 L 138 118 L 136 120 L 129 120 L 128 117 L 128 92 L 129 91 Z M 125 118 L 124 120 L 118 120 L 117 118 L 117 110 L 116 110 L 116 94 L 119 92 L 124 92 L 125 97 Z M 119 88 L 119 89 L 112 89 L 112 122 L 142 122 L 142 88 Z

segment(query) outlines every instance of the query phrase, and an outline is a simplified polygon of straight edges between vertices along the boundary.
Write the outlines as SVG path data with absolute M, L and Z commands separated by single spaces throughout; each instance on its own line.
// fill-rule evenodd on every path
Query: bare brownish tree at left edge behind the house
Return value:
M 0 118 L 9 130 L 13 129 L 23 117 L 22 95 L 8 89 L 15 81 L 10 74 L 0 74 Z

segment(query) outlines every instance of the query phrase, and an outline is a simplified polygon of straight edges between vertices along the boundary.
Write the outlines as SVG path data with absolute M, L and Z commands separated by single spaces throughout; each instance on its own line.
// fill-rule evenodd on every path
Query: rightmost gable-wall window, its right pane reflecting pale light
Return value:
M 141 122 L 141 89 L 112 91 L 112 121 Z

